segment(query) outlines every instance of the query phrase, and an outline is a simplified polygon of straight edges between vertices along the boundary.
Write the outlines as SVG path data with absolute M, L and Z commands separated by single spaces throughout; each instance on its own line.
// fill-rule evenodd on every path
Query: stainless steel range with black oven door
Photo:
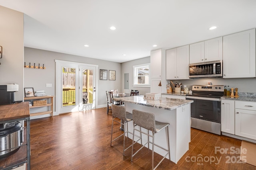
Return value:
M 194 85 L 186 99 L 191 104 L 191 127 L 221 135 L 220 114 L 224 86 Z

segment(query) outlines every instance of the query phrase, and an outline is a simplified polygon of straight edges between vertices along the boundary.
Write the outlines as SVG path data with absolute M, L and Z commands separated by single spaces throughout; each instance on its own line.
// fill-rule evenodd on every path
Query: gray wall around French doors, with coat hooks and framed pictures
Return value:
M 115 63 L 111 61 L 104 61 L 98 59 L 92 59 L 88 57 L 81 57 L 63 53 L 56 53 L 52 51 L 45 51 L 40 49 L 33 48 L 24 48 L 24 62 L 26 65 L 31 63 L 34 65 L 44 66 L 46 69 L 34 69 L 34 68 L 24 68 L 24 87 L 32 87 L 34 91 L 37 90 L 45 90 L 46 95 L 56 95 L 55 84 L 56 84 L 56 66 L 55 59 L 64 60 L 64 61 L 73 61 L 79 63 L 86 64 L 96 64 L 98 65 L 98 72 L 100 69 L 105 70 L 116 70 L 116 80 L 99 80 L 99 75 L 97 75 L 98 83 L 98 96 L 96 96 L 96 100 L 98 100 L 98 106 L 106 107 L 106 91 L 111 89 L 121 90 L 121 64 Z M 46 87 L 46 83 L 51 83 L 52 87 Z M 58 87 L 57 87 L 58 88 Z M 55 108 L 55 106 L 54 106 Z M 55 109 L 54 109 L 55 110 Z

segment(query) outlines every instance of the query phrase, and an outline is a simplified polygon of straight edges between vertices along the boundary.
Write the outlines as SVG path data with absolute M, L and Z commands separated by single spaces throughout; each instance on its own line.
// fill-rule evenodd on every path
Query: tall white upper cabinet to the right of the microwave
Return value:
M 255 77 L 255 64 L 255 29 L 223 37 L 223 78 Z

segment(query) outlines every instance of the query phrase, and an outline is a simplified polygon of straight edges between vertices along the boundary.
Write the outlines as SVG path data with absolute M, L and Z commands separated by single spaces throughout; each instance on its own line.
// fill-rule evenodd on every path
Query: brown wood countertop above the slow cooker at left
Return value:
M 0 105 L 0 121 L 30 117 L 29 103 Z

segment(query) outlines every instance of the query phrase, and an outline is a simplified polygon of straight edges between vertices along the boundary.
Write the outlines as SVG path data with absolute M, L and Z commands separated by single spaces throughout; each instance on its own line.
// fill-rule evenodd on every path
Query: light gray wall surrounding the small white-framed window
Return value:
M 133 61 L 128 61 L 125 63 L 121 63 L 121 92 L 125 91 L 126 93 L 130 93 L 131 90 L 139 90 L 140 95 L 146 95 L 146 93 L 150 93 L 150 87 L 133 87 L 133 67 L 134 65 L 146 64 L 150 63 L 150 57 L 145 57 L 142 59 L 137 59 Z M 124 90 L 124 74 L 129 73 L 129 89 Z

